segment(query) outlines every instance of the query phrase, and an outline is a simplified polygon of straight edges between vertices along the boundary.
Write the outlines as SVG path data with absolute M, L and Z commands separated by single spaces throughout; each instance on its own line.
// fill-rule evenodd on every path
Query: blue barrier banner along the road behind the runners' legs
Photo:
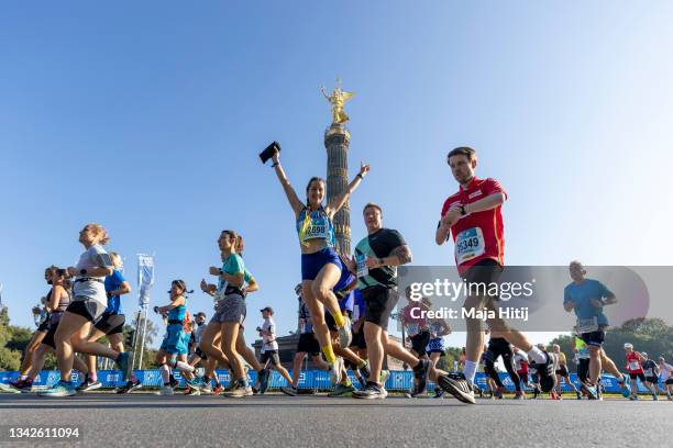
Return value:
M 289 372 L 291 376 L 291 370 Z M 163 385 L 162 376 L 158 369 L 134 370 L 134 373 L 135 373 L 135 377 L 145 387 L 158 388 Z M 227 370 L 218 370 L 217 373 L 218 373 L 218 379 L 222 384 L 229 384 L 230 374 Z M 183 376 L 180 374 L 180 371 L 174 370 L 173 374 L 175 379 L 179 381 L 179 387 L 185 387 L 186 382 Z M 503 385 L 505 385 L 505 388 L 508 391 L 514 391 L 515 387 L 509 376 L 504 372 L 499 373 L 499 376 L 500 376 L 500 380 L 503 381 Z M 19 377 L 19 372 L 0 371 L 0 382 L 2 383 L 15 381 L 18 377 Z M 254 370 L 251 370 L 249 371 L 247 377 L 250 379 L 250 383 L 254 384 L 255 381 L 257 380 L 257 372 L 255 372 Z M 356 378 L 350 371 L 349 371 L 349 377 L 351 381 L 353 381 L 353 383 L 357 384 Z M 37 378 L 35 378 L 34 384 L 35 387 L 41 387 L 41 388 L 49 387 L 56 383 L 59 378 L 60 378 L 60 374 L 57 370 L 43 370 L 42 372 L 40 372 Z M 73 381 L 75 382 L 81 382 L 84 380 L 84 376 L 77 371 L 73 372 L 71 378 L 73 378 Z M 578 388 L 580 382 L 577 381 L 577 376 L 575 373 L 571 373 L 570 378 L 571 378 L 571 381 L 573 381 L 575 385 Z M 124 381 L 122 380 L 122 377 L 121 377 L 121 372 L 119 370 L 101 370 L 98 372 L 98 380 L 102 383 L 103 388 L 118 388 L 124 384 Z M 602 380 L 603 380 L 603 385 L 606 392 L 610 392 L 610 393 L 620 392 L 619 384 L 617 383 L 617 380 L 615 379 L 615 377 L 613 377 L 611 374 L 604 374 L 602 377 Z M 412 382 L 413 382 L 413 373 L 410 370 L 407 370 L 407 371 L 391 370 L 390 376 L 386 380 L 385 388 L 389 391 L 407 391 L 411 389 Z M 485 388 L 487 389 L 486 374 L 484 372 L 477 372 L 476 378 L 475 378 L 475 383 L 482 389 L 485 389 Z M 284 385 L 287 385 L 287 382 L 285 381 L 285 379 L 283 379 L 280 373 L 274 370 L 272 371 L 272 374 L 269 377 L 268 384 L 269 384 L 269 388 L 282 388 Z M 332 389 L 332 385 L 330 384 L 329 373 L 326 372 L 324 370 L 305 370 L 302 371 L 301 374 L 299 376 L 298 385 L 299 388 L 307 388 L 307 389 L 319 389 L 319 390 Z M 660 385 L 663 385 L 661 384 L 661 381 L 660 381 Z M 429 390 L 434 389 L 434 384 L 431 381 L 428 383 L 428 389 Z M 530 389 L 523 388 L 523 390 L 530 390 Z M 572 388 L 569 384 L 566 384 L 564 381 L 562 381 L 561 390 L 563 392 L 570 392 L 572 391 Z M 640 381 L 638 381 L 638 391 L 643 392 L 643 393 L 648 392 L 648 390 L 640 383 Z

